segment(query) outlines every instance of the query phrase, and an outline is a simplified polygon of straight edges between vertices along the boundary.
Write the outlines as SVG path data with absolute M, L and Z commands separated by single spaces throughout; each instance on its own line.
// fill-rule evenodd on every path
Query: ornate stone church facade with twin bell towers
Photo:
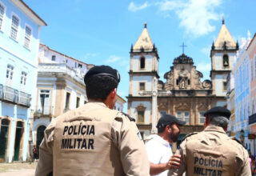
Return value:
M 130 89 L 127 96 L 128 114 L 136 118 L 144 139 L 155 133 L 154 127 L 162 114 L 174 114 L 186 121 L 186 126 L 181 127 L 182 138 L 203 129 L 206 110 L 225 105 L 226 76 L 232 69 L 234 49 L 238 45 L 226 34 L 230 33 L 222 22 L 222 29 L 210 52 L 211 80 L 201 81 L 203 75 L 196 70 L 193 58 L 183 53 L 174 58 L 173 66 L 164 74 L 166 80 L 162 81 L 158 76 L 158 49 L 145 24 L 142 34 L 130 49 Z

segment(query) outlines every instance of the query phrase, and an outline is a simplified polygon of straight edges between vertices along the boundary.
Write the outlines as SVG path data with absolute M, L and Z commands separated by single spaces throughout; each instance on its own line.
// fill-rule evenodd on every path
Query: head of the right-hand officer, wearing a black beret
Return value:
M 210 125 L 220 126 L 223 129 L 226 129 L 230 119 L 230 110 L 227 110 L 225 107 L 216 106 L 207 110 L 204 114 L 206 118 L 209 118 Z

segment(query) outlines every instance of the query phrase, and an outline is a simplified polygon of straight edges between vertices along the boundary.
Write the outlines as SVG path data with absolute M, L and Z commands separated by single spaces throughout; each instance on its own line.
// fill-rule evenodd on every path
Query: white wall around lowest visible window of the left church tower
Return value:
M 144 114 L 144 122 L 145 124 L 150 124 L 150 112 L 151 112 L 151 102 L 132 102 L 131 103 L 131 117 L 136 119 L 137 122 L 137 107 L 142 105 L 146 107 Z

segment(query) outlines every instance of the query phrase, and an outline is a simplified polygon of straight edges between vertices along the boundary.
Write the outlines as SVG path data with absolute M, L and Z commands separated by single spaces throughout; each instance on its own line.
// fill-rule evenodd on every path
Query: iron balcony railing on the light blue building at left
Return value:
M 31 95 L 15 90 L 10 86 L 3 86 L 0 84 L 0 99 L 7 102 L 13 102 L 14 104 L 30 106 Z

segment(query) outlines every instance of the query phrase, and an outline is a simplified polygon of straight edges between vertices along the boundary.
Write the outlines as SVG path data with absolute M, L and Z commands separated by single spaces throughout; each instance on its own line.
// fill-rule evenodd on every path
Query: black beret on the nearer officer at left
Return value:
M 102 76 L 110 76 L 114 78 L 117 82 L 120 82 L 120 74 L 118 73 L 118 70 L 113 69 L 110 66 L 94 66 L 92 67 L 85 75 L 84 82 L 86 83 L 86 79 L 96 76 L 96 75 L 102 75 Z

